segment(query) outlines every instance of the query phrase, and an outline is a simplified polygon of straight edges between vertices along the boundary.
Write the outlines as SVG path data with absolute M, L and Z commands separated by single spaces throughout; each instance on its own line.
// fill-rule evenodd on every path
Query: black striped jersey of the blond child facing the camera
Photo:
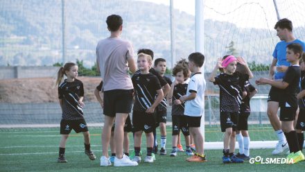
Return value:
M 161 89 L 158 78 L 153 74 L 136 73 L 132 76 L 135 90 L 133 110 L 146 111 L 155 102 L 157 90 Z

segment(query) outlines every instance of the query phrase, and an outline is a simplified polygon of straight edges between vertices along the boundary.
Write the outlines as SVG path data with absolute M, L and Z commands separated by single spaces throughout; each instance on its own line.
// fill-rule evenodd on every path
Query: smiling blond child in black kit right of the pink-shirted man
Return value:
M 152 65 L 150 55 L 139 53 L 137 65 L 140 72 L 132 76 L 135 101 L 132 112 L 132 124 L 134 129 L 134 153 L 132 161 L 141 162 L 141 135 L 146 133 L 147 156 L 144 162 L 154 162 L 153 153 L 153 129 L 155 128 L 155 108 L 164 97 L 159 80 L 149 69 Z M 157 97 L 156 97 L 157 96 Z

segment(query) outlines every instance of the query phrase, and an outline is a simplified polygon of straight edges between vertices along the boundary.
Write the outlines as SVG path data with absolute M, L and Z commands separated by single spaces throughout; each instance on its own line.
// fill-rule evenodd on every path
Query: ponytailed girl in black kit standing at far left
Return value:
M 64 80 L 63 77 L 67 76 Z M 85 139 L 85 154 L 90 160 L 95 160 L 96 156 L 90 149 L 90 135 L 87 128 L 87 123 L 82 112 L 82 99 L 84 98 L 84 87 L 82 81 L 76 79 L 78 76 L 78 66 L 73 62 L 67 62 L 64 67 L 60 67 L 56 85 L 58 85 L 58 98 L 60 107 L 62 108 L 62 121 L 60 121 L 60 151 L 58 162 L 68 162 L 64 157 L 66 142 L 71 130 L 82 132 Z

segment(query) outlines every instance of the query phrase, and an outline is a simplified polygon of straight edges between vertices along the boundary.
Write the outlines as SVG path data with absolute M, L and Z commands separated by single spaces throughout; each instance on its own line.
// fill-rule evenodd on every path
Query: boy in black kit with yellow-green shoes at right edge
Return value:
M 295 120 L 295 112 L 297 111 L 297 92 L 299 85 L 299 78 L 301 71 L 299 69 L 299 58 L 302 55 L 303 49 L 300 44 L 288 44 L 286 46 L 286 59 L 290 62 L 283 80 L 270 80 L 268 78 L 260 78 L 256 80 L 257 85 L 271 85 L 279 89 L 284 89 L 281 93 L 281 101 L 279 102 L 281 130 L 284 131 L 290 154 L 287 156 L 288 163 L 294 164 L 305 160 L 302 151 L 299 149 L 299 142 L 297 139 L 297 132 L 293 128 L 293 121 Z

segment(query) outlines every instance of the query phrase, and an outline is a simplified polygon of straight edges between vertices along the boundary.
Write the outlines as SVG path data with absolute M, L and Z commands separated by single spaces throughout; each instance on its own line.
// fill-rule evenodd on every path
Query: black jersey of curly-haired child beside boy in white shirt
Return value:
M 186 94 L 188 84 L 177 84 L 174 87 L 172 101 L 179 100 L 181 96 Z M 172 105 L 172 115 L 183 115 L 184 114 L 184 103 L 180 105 Z

